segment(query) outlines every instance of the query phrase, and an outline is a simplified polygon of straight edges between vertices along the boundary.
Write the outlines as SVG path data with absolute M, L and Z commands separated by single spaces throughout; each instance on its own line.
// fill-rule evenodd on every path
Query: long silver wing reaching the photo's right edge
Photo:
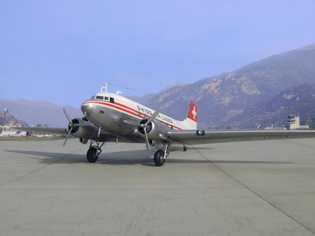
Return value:
M 227 142 L 315 138 L 313 130 L 170 130 L 174 143 L 187 145 Z

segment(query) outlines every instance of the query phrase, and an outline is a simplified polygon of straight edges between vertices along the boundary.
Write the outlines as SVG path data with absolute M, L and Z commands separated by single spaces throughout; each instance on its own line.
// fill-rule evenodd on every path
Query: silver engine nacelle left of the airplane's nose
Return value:
M 72 122 L 74 124 L 84 123 L 87 121 L 84 121 L 82 118 L 74 118 L 72 119 Z M 68 127 L 70 129 L 70 127 Z M 82 144 L 88 143 L 89 139 L 95 138 L 98 134 L 98 129 L 95 125 L 85 125 L 85 126 L 74 126 L 71 130 L 71 135 L 80 138 L 80 142 Z

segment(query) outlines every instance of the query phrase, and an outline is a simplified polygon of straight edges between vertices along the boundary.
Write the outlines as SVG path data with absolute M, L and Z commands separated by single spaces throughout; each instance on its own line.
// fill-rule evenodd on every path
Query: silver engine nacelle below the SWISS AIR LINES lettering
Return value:
M 147 122 L 148 119 L 143 119 L 140 121 L 140 124 L 144 124 Z M 162 122 L 159 122 L 158 120 L 154 119 L 150 123 L 147 124 L 146 131 L 149 143 L 152 146 L 155 146 L 157 144 L 157 140 L 162 136 L 167 137 L 167 133 L 171 128 L 168 127 L 166 124 L 163 124 Z M 137 128 L 138 133 L 141 137 L 145 138 L 145 130 L 142 127 Z

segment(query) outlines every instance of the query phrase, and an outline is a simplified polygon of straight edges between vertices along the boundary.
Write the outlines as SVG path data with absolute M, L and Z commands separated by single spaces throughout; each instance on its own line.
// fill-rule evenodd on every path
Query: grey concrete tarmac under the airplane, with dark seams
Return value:
M 62 145 L 0 142 L 0 236 L 315 235 L 315 139 Z

